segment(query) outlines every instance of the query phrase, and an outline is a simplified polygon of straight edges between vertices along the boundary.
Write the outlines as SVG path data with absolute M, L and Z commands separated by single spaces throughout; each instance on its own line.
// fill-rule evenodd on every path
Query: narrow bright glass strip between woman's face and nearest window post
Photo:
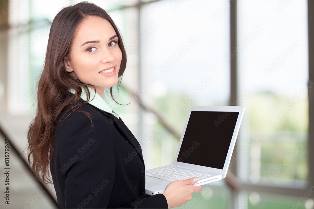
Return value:
M 124 48 L 127 52 L 127 67 L 123 73 L 119 95 L 116 94 L 118 105 L 118 114 L 132 131 L 134 136 L 139 140 L 139 106 L 138 99 L 142 94 L 139 87 L 139 31 L 138 17 L 139 9 L 136 7 L 126 8 L 117 11 L 115 15 L 111 15 L 114 22 L 120 29 L 123 37 Z M 116 88 L 115 88 L 116 89 Z M 128 91 L 132 91 L 129 93 Z M 115 92 L 117 92 L 115 90 Z

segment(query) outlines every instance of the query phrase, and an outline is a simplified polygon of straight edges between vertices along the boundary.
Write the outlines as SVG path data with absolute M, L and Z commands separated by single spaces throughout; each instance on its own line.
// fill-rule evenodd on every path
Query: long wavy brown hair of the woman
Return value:
M 116 24 L 104 9 L 93 3 L 81 2 L 63 8 L 56 15 L 51 24 L 44 68 L 38 82 L 38 108 L 27 134 L 29 143 L 28 161 L 32 164 L 32 170 L 37 179 L 46 184 L 51 184 L 50 163 L 59 116 L 63 111 L 71 114 L 73 110 L 75 111 L 84 105 L 84 103 L 79 103 L 74 109 L 73 107 L 72 109 L 68 108 L 79 101 L 82 88 L 86 90 L 88 100 L 90 97 L 87 84 L 70 76 L 63 61 L 63 58 L 68 56 L 70 52 L 78 25 L 89 16 L 99 16 L 111 23 L 118 36 L 118 45 L 122 51 L 122 61 L 118 72 L 119 78 L 126 68 L 127 55 L 122 36 Z M 120 83 L 118 82 L 118 86 Z M 68 90 L 70 88 L 74 89 L 75 94 L 69 94 Z M 112 87 L 110 88 L 110 94 L 113 98 Z

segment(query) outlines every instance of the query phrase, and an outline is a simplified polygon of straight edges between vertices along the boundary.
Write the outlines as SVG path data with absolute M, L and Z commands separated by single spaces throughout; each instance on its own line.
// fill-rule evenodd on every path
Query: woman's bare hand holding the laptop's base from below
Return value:
M 193 192 L 199 192 L 202 186 L 193 186 L 198 181 L 197 177 L 186 180 L 173 181 L 166 186 L 163 193 L 166 197 L 168 208 L 179 207 L 191 200 Z

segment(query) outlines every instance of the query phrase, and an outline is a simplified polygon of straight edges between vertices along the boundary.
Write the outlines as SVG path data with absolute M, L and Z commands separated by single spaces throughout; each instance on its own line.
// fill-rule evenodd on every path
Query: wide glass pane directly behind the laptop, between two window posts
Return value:
M 141 9 L 141 86 L 146 90 L 143 102 L 179 136 L 190 106 L 228 104 L 230 74 L 225 54 L 230 46 L 229 8 L 228 1 L 198 0 L 159 1 Z M 213 19 L 216 12 L 222 13 L 217 20 Z M 154 128 L 157 125 L 143 121 L 143 137 Z M 175 155 L 178 142 L 164 135 L 168 133 L 160 131 L 156 138 L 162 142 L 152 140 L 147 145 L 151 149 L 145 156 L 149 159 L 146 165 L 173 162 L 170 156 Z M 174 147 L 169 148 L 174 153 L 167 153 L 165 160 L 153 159 L 161 155 L 149 157 L 149 153 L 160 152 L 160 146 Z

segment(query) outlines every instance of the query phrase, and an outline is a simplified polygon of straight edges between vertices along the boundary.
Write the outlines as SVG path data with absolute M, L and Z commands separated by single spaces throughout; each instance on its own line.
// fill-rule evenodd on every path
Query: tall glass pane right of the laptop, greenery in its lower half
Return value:
M 246 107 L 237 159 L 252 183 L 306 180 L 307 1 L 239 0 L 239 99 Z M 231 56 L 232 59 L 232 56 Z M 231 163 L 232 164 L 232 163 Z M 301 186 L 301 184 L 298 184 Z

